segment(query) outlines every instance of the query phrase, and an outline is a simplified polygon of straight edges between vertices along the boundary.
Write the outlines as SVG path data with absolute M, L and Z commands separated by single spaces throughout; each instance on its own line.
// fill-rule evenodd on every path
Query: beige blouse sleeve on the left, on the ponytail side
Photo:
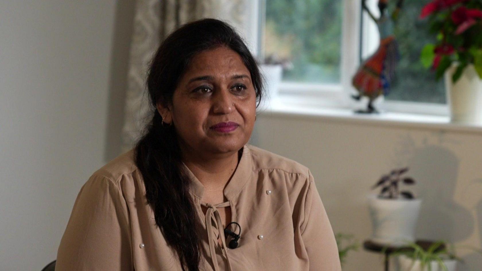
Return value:
M 132 270 L 127 204 L 119 187 L 94 174 L 74 203 L 56 271 Z

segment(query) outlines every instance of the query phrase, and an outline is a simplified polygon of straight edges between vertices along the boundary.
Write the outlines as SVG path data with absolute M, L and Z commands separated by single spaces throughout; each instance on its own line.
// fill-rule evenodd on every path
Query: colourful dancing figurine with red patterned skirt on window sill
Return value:
M 388 95 L 390 83 L 395 76 L 395 67 L 400 60 L 397 41 L 393 35 L 393 23 L 397 20 L 403 0 L 398 0 L 397 7 L 392 15 L 388 15 L 388 0 L 378 0 L 380 16 L 378 18 L 362 0 L 362 8 L 370 18 L 375 21 L 380 33 L 380 45 L 374 54 L 369 56 L 358 68 L 353 76 L 352 85 L 358 94 L 352 98 L 360 100 L 362 96 L 368 97 L 368 106 L 357 113 L 377 113 L 373 101 L 380 95 Z

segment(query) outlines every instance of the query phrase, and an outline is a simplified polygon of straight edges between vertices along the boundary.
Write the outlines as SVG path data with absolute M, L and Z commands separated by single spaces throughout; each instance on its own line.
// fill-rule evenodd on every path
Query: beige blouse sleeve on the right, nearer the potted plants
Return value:
M 308 171 L 308 190 L 305 219 L 301 223 L 301 237 L 308 254 L 310 271 L 341 271 L 338 248 L 333 229 L 326 215 L 320 194 L 311 172 Z

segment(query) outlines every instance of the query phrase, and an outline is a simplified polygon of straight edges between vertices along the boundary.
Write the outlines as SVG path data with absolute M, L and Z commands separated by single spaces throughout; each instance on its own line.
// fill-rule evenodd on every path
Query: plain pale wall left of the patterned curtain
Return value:
M 107 160 L 116 5 L 0 1 L 1 271 L 56 257 L 81 185 Z

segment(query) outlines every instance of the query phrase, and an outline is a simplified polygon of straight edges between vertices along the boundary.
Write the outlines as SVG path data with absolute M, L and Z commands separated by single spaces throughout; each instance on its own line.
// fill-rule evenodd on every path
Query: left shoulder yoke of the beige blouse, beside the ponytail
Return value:
M 130 149 L 94 172 L 92 176 L 104 177 L 119 185 L 120 180 L 125 176 L 132 176 L 137 171 L 134 159 L 134 149 Z

